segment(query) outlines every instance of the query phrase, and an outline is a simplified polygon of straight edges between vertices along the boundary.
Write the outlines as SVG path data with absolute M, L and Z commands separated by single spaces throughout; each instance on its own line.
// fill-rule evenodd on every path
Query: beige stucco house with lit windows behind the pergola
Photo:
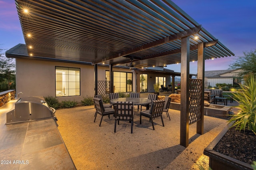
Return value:
M 86 62 L 59 61 L 42 57 L 29 57 L 25 44 L 6 51 L 6 57 L 16 58 L 16 92 L 24 96 L 56 96 L 58 100 L 83 100 L 94 96 L 94 66 Z M 135 92 L 136 74 L 140 74 L 140 92 L 154 92 L 153 84 L 168 86 L 173 70 L 164 67 L 133 70 L 113 67 L 114 91 Z M 177 73 L 175 73 L 177 74 Z M 132 84 L 127 84 L 127 80 Z M 109 66 L 98 65 L 98 92 L 109 93 Z M 142 81 L 143 80 L 143 81 Z

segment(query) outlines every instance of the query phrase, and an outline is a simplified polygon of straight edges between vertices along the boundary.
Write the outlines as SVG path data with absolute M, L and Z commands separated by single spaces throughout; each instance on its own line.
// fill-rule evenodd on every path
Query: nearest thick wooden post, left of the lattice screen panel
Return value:
M 188 147 L 190 37 L 181 39 L 180 145 Z

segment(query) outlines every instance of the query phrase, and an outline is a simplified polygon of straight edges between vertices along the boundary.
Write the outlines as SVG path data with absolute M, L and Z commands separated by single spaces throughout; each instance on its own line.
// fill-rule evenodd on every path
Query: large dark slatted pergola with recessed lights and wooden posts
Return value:
M 203 82 L 204 60 L 234 55 L 202 25 L 170 0 L 15 1 L 30 58 L 89 62 L 96 73 L 97 64 L 111 73 L 181 63 L 180 145 L 188 146 L 189 62 L 198 61 Z M 203 134 L 203 114 L 197 123 Z

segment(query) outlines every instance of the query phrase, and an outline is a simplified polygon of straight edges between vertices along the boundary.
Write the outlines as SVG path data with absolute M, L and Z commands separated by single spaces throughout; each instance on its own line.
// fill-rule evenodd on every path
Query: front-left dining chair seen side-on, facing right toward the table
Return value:
M 95 118 L 94 118 L 94 122 L 95 122 L 96 117 L 97 117 L 98 114 L 101 115 L 101 119 L 100 119 L 100 124 L 101 124 L 103 116 L 108 115 L 108 118 L 110 118 L 109 115 L 112 115 L 112 114 L 115 113 L 114 109 L 109 108 L 109 107 L 104 107 L 103 103 L 102 103 L 102 100 L 100 98 L 93 98 L 93 101 L 94 101 L 94 106 L 95 106 L 95 109 L 96 109 L 96 115 L 95 115 Z

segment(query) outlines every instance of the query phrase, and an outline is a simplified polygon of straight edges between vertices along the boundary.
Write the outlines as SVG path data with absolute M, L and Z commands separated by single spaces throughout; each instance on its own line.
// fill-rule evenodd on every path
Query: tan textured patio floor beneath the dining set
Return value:
M 160 95 L 168 95 L 166 93 Z M 147 94 L 145 94 L 147 97 Z M 144 98 L 144 94 L 141 95 Z M 228 102 L 228 105 L 230 103 Z M 236 103 L 232 103 L 236 105 Z M 6 122 L 0 107 L 1 124 Z M 180 145 L 180 111 L 169 109 L 171 120 L 163 114 L 164 127 L 160 118 L 151 122 L 135 114 L 133 134 L 131 124 L 120 121 L 114 133 L 114 117 L 100 116 L 94 123 L 94 106 L 58 109 L 58 130 L 78 170 L 116 169 L 208 169 L 208 157 L 204 148 L 227 125 L 225 119 L 204 116 L 204 134 L 196 134 L 196 123 L 189 126 L 189 146 Z M 0 132 L 1 133 L 1 132 Z M 0 141 L 1 143 L 1 141 Z M 2 169 L 3 165 L 0 165 Z M 42 168 L 43 169 L 43 168 Z

